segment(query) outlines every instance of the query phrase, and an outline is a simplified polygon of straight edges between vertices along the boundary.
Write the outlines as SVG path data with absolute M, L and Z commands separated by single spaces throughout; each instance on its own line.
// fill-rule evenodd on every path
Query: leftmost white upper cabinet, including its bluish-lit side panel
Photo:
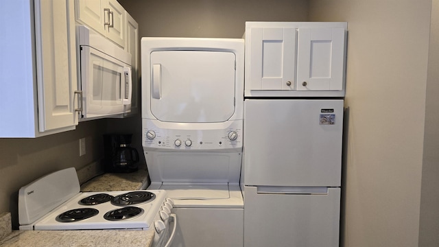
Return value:
M 0 25 L 0 137 L 39 137 L 78 125 L 73 0 L 5 1 Z M 34 14 L 29 14 L 34 13 Z

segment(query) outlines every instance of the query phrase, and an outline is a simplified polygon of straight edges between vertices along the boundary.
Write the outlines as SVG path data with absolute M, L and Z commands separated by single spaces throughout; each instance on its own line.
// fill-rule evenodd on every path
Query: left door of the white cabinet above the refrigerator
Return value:
M 293 90 L 296 28 L 252 28 L 250 89 Z

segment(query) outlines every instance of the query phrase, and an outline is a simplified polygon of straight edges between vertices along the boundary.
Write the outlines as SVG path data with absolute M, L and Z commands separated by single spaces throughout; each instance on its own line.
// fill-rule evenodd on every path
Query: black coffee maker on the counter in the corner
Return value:
M 104 168 L 106 172 L 136 172 L 139 153 L 131 148 L 132 134 L 104 134 Z

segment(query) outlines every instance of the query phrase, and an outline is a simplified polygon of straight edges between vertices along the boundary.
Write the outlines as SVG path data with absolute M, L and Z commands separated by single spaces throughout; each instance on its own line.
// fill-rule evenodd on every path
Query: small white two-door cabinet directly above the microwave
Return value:
M 76 0 L 76 21 L 125 48 L 126 11 L 116 0 Z

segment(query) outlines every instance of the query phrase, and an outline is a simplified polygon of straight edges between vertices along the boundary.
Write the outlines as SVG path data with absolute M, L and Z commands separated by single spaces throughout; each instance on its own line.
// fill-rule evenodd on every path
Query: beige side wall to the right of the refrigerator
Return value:
M 344 246 L 413 247 L 423 235 L 423 159 L 439 161 L 424 156 L 424 143 L 439 142 L 437 135 L 424 142 L 424 125 L 438 123 L 429 120 L 437 108 L 425 108 L 426 88 L 437 88 L 437 81 L 427 86 L 430 12 L 431 0 L 310 1 L 311 21 L 348 21 Z M 437 105 L 438 97 L 427 102 Z M 425 195 L 425 206 L 435 194 Z M 438 204 L 429 206 L 437 215 Z M 438 231 L 426 234 L 437 241 Z

